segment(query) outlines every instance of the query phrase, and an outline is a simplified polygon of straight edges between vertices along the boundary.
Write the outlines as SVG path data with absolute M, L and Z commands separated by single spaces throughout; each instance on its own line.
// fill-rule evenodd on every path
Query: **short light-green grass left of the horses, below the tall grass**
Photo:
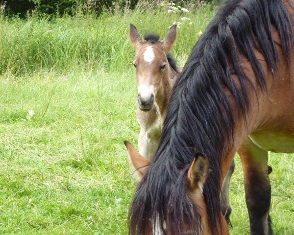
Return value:
M 134 182 L 123 140 L 138 132 L 131 76 L 2 77 L 1 232 L 125 234 Z

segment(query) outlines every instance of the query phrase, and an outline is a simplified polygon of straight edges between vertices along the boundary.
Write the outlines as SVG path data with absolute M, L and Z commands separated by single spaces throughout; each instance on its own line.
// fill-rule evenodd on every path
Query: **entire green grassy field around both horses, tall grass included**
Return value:
M 190 9 L 190 6 L 187 6 Z M 0 234 L 124 235 L 135 182 L 123 140 L 137 146 L 134 51 L 128 24 L 163 37 L 181 22 L 173 54 L 183 66 L 215 7 L 186 13 L 114 9 L 98 19 L 0 17 Z M 182 20 L 183 17 L 191 19 Z M 294 234 L 294 155 L 270 153 L 271 216 Z M 236 158 L 232 235 L 249 234 Z

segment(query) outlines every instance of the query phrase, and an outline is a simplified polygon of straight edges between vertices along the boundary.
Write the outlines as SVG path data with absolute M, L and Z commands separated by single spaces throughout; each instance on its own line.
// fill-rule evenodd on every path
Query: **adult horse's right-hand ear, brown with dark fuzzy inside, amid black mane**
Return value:
M 188 170 L 187 180 L 189 183 L 189 188 L 192 190 L 200 188 L 202 190 L 202 187 L 206 182 L 208 173 L 208 158 L 202 153 L 196 153 L 195 159 Z

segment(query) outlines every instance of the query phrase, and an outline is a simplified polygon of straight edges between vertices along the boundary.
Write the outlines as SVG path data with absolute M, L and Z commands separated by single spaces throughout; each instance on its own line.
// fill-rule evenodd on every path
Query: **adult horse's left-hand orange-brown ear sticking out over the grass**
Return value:
M 130 161 L 136 169 L 136 180 L 140 181 L 142 177 L 145 175 L 150 162 L 146 158 L 144 158 L 140 153 L 138 153 L 130 142 L 123 142 L 126 146 Z

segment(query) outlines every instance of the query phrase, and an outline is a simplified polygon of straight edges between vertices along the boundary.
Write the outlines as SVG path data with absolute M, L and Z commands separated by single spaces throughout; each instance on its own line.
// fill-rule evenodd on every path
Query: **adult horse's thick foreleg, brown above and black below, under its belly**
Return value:
M 249 138 L 238 150 L 245 177 L 245 197 L 251 235 L 272 235 L 270 224 L 270 169 L 268 151 L 260 149 Z

